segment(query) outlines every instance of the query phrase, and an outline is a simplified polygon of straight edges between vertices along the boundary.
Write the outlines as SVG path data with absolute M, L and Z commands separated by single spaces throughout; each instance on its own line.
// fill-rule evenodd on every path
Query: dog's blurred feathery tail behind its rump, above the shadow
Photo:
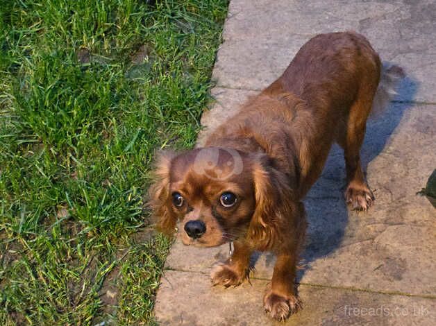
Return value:
M 383 109 L 387 108 L 392 98 L 398 94 L 396 87 L 403 78 L 405 78 L 403 68 L 395 65 L 390 67 L 383 65 L 380 83 L 378 83 L 378 89 L 372 104 L 371 117 L 378 117 Z

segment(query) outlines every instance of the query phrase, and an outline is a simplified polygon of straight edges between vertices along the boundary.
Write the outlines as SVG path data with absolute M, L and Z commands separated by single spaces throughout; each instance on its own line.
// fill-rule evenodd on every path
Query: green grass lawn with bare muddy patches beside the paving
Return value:
M 149 325 L 144 195 L 190 148 L 226 0 L 0 0 L 0 325 Z

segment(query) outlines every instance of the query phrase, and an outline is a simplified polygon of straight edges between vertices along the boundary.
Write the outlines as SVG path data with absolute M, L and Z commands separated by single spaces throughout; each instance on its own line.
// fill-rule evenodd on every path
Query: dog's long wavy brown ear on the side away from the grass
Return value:
M 274 250 L 280 246 L 283 229 L 292 228 L 292 212 L 295 210 L 294 192 L 289 178 L 269 164 L 266 155 L 253 158 L 253 183 L 255 212 L 251 218 L 247 237 L 259 250 Z

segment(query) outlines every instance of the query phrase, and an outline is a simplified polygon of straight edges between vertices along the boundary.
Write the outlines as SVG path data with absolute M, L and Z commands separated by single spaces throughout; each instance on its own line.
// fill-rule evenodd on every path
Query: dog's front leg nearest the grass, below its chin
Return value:
M 252 249 L 240 241 L 235 241 L 234 246 L 232 257 L 212 268 L 210 278 L 214 286 L 237 286 L 249 277 Z

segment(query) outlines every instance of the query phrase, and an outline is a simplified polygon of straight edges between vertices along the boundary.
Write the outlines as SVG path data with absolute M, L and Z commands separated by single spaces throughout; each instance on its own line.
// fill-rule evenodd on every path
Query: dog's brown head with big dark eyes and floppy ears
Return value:
M 150 188 L 158 228 L 183 243 L 219 246 L 240 237 L 269 248 L 297 209 L 289 178 L 266 155 L 229 148 L 160 153 Z

